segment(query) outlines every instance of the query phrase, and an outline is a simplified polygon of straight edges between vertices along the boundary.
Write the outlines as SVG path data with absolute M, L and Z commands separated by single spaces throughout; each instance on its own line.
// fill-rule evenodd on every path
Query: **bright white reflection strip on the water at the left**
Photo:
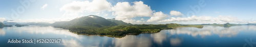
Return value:
M 27 32 L 27 33 L 30 33 L 30 34 L 49 34 L 49 33 L 52 33 L 52 34 L 56 34 L 56 35 L 65 35 L 64 37 L 67 38 L 67 36 L 72 36 L 72 37 L 75 37 L 77 39 L 80 39 L 82 37 L 79 37 L 79 35 L 77 34 L 74 34 L 74 33 L 71 33 L 71 32 L 68 32 L 69 30 L 66 30 L 66 29 L 61 29 L 61 28 L 54 28 L 54 27 L 51 27 L 51 26 L 26 26 L 26 27 L 8 27 L 6 28 L 6 30 L 14 30 L 16 32 L 19 32 L 19 33 L 22 33 L 22 32 Z

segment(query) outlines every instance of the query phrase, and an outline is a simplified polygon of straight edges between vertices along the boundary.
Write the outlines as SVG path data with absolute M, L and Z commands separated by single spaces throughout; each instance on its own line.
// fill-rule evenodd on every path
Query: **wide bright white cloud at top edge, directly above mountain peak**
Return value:
M 109 10 L 111 8 L 111 3 L 106 0 L 93 0 L 92 2 L 84 1 L 74 1 L 70 4 L 66 4 L 60 8 L 60 11 L 66 12 L 100 12 L 103 10 Z

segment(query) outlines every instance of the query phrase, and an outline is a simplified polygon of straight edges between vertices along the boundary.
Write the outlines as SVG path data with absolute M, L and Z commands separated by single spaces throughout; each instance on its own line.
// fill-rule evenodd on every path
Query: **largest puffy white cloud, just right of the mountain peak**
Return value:
M 134 5 L 130 5 L 128 2 L 117 3 L 112 8 L 112 15 L 116 16 L 117 20 L 127 20 L 133 17 L 150 17 L 153 11 L 150 6 L 143 4 L 143 2 L 133 2 Z

